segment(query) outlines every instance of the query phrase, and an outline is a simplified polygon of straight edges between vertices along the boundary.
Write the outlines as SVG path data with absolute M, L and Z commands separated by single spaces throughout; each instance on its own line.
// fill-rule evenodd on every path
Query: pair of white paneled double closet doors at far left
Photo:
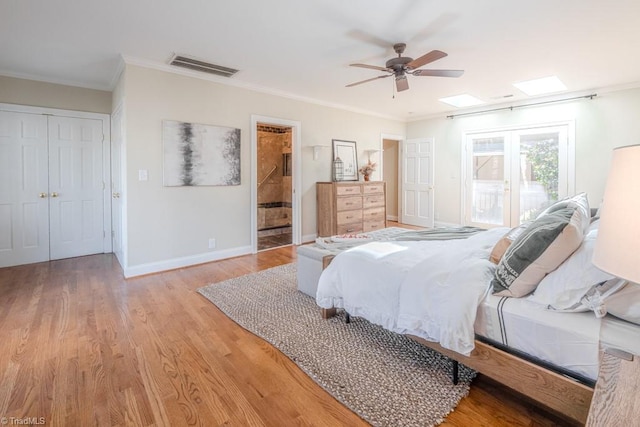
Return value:
M 0 111 L 0 267 L 104 251 L 103 139 L 101 120 Z

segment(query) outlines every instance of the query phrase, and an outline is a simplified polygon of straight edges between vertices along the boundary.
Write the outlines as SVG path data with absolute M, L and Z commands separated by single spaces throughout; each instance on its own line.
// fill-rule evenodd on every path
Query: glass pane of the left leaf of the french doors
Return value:
M 501 136 L 473 139 L 471 221 L 474 223 L 504 223 L 504 148 Z

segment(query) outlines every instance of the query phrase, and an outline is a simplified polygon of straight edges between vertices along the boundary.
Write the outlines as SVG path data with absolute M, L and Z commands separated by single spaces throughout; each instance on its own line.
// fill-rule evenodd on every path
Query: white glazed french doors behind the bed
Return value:
M 572 194 L 572 135 L 571 123 L 468 133 L 465 224 L 515 227 Z

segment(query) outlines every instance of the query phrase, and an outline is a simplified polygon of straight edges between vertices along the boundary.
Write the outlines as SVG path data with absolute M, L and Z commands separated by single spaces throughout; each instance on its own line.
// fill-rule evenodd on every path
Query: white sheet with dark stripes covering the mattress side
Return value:
M 525 298 L 488 295 L 474 328 L 478 335 L 595 380 L 600 324 L 591 311 L 557 312 Z

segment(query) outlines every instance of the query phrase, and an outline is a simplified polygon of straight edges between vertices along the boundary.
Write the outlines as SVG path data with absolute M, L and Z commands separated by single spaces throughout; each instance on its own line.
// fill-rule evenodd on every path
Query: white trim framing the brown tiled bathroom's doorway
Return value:
M 301 134 L 302 124 L 299 121 L 281 119 L 277 117 L 251 115 L 251 252 L 258 252 L 258 124 L 273 124 L 287 126 L 291 128 L 292 141 L 292 168 L 291 168 L 291 233 L 292 243 L 301 243 L 301 196 L 302 187 L 302 157 L 301 157 Z

